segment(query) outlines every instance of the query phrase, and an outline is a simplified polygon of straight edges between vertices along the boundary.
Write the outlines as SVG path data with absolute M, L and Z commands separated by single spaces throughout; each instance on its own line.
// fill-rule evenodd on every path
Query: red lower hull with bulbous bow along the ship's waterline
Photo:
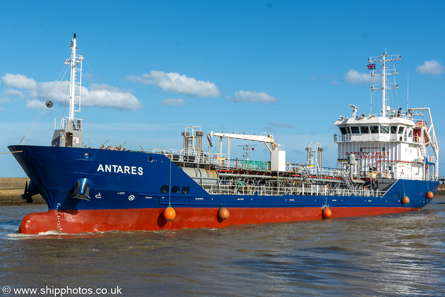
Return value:
M 408 207 L 332 207 L 332 217 L 368 216 L 397 213 L 418 208 Z M 63 233 L 164 230 L 183 228 L 223 228 L 232 225 L 291 222 L 322 219 L 320 207 L 228 208 L 230 216 L 222 220 L 219 208 L 175 208 L 176 217 L 168 222 L 163 208 L 94 209 L 31 213 L 23 218 L 19 232 L 39 234 L 50 230 Z

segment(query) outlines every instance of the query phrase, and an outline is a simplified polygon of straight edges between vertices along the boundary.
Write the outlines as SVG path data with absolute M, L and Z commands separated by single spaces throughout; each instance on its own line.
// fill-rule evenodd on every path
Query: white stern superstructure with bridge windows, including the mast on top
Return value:
M 428 107 L 392 109 L 388 106 L 388 89 L 397 89 L 389 82 L 390 75 L 398 74 L 388 69 L 388 61 L 400 60 L 400 55 L 384 53 L 368 60 L 368 69 L 375 69 L 375 62 L 382 62 L 381 71 L 372 71 L 371 76 L 381 76 L 372 91 L 382 90 L 381 113 L 360 114 L 353 107 L 352 115 L 341 116 L 335 125 L 340 135 L 334 135 L 338 144 L 338 162 L 348 166 L 348 155 L 356 155 L 355 172 L 360 177 L 410 180 L 437 180 L 439 148 L 434 132 L 431 112 Z M 427 115 L 427 120 L 424 116 Z M 422 118 L 415 118 L 422 116 Z M 431 145 L 431 146 L 430 146 Z M 432 154 L 428 152 L 432 148 Z

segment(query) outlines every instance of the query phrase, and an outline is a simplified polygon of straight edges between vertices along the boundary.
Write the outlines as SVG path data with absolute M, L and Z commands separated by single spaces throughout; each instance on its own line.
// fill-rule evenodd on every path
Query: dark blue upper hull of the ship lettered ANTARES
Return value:
M 38 187 L 49 210 L 58 212 L 151 209 L 161 213 L 171 205 L 175 209 L 188 210 L 208 208 L 217 211 L 220 207 L 247 209 L 253 217 L 262 209 L 268 212 L 276 209 L 276 216 L 279 217 L 286 208 L 292 209 L 293 213 L 295 209 L 304 213 L 304 208 L 313 212 L 313 209 L 329 207 L 333 209 L 334 217 L 354 216 L 422 208 L 431 200 L 426 198 L 426 193 L 431 191 L 436 195 L 439 185 L 433 181 L 398 180 L 383 197 L 209 194 L 163 154 L 93 148 L 8 148 L 10 151 L 22 151 L 13 153 L 15 158 Z M 89 183 L 90 201 L 72 197 L 79 180 Z M 172 189 L 173 186 L 178 187 L 178 193 L 162 193 L 163 187 Z M 186 191 L 188 193 L 182 193 L 184 187 L 189 190 Z M 401 203 L 404 195 L 409 197 L 408 204 Z M 193 212 L 188 215 L 193 216 Z M 317 214 L 317 217 L 321 218 L 320 215 Z M 273 214 L 271 216 L 275 217 Z M 301 217 L 312 218 L 305 214 Z M 287 219 L 296 220 L 294 214 L 283 221 Z M 281 220 L 275 218 L 270 221 Z M 195 227 L 200 225 L 185 226 Z M 207 225 L 203 224 L 202 227 Z

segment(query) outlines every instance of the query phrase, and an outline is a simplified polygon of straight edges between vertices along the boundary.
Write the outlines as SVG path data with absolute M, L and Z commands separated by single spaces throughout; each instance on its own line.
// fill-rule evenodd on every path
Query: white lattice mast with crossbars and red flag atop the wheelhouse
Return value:
M 401 56 L 399 54 L 396 55 L 388 55 L 386 52 L 383 53 L 380 56 L 376 57 L 370 57 L 368 59 L 368 69 L 375 69 L 375 62 L 382 62 L 382 70 L 372 71 L 371 77 L 373 76 L 382 76 L 382 83 L 379 84 L 373 84 L 371 87 L 371 91 L 374 90 L 382 90 L 382 113 L 383 117 L 386 117 L 386 111 L 387 111 L 387 95 L 389 89 L 398 89 L 399 87 L 396 85 L 396 83 L 390 83 L 388 82 L 388 75 L 393 74 L 399 74 L 399 71 L 396 69 L 389 69 L 386 65 L 387 62 L 390 61 L 400 61 Z M 374 63 L 374 64 L 371 64 Z M 371 65 L 371 66 L 370 66 Z

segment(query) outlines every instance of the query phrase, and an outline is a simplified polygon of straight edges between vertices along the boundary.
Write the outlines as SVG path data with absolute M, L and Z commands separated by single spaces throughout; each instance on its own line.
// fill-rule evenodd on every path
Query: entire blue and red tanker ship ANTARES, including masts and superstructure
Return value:
M 75 117 L 83 60 L 76 35 L 70 47 L 65 61 L 71 71 L 69 116 L 55 119 L 50 146 L 8 147 L 30 179 L 22 197 L 31 202 L 40 194 L 48 205 L 46 212 L 26 215 L 20 233 L 223 228 L 370 216 L 418 210 L 437 193 L 439 148 L 430 109 L 389 106 L 389 91 L 398 88 L 390 78 L 398 72 L 388 65 L 401 60 L 398 54 L 368 59 L 376 78 L 371 92 L 379 100 L 381 95 L 381 108 L 361 114 L 351 104 L 352 113 L 336 120 L 337 166 L 327 168 L 318 143 L 308 145 L 304 163 L 291 163 L 272 134 L 205 135 L 199 126 L 180 131 L 178 149 L 84 146 L 83 119 Z M 270 159 L 232 158 L 232 140 L 246 140 L 246 156 L 247 141 L 264 143 Z

